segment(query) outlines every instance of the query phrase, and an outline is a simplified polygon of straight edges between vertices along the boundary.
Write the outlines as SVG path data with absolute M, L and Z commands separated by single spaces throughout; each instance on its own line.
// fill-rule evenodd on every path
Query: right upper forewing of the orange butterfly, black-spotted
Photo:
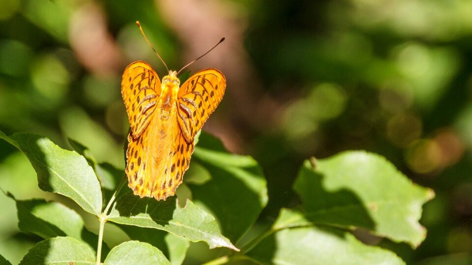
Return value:
M 225 76 L 214 68 L 197 72 L 182 84 L 177 96 L 177 120 L 188 143 L 193 142 L 195 134 L 221 102 L 225 89 Z

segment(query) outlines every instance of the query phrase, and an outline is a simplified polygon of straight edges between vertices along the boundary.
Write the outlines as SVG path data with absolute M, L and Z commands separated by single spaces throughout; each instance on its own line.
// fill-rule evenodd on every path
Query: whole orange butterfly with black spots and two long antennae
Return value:
M 131 63 L 123 73 L 121 95 L 131 127 L 125 171 L 128 186 L 140 197 L 165 200 L 175 194 L 194 150 L 194 136 L 225 93 L 226 78 L 217 69 L 200 71 L 180 87 L 177 74 L 169 71 L 161 82 L 144 61 Z

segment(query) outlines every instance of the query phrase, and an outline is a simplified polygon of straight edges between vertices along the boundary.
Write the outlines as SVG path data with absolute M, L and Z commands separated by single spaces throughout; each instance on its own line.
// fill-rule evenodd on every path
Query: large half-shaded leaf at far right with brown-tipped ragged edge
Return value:
M 433 190 L 413 184 L 383 157 L 351 151 L 315 166 L 305 161 L 294 185 L 311 222 L 363 227 L 413 247 L 426 237 L 418 220 Z

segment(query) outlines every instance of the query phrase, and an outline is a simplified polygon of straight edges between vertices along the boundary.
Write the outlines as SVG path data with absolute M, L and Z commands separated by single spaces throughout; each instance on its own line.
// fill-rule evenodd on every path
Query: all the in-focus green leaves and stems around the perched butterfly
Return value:
M 46 239 L 29 250 L 22 265 L 180 265 L 189 241 L 233 250 L 209 264 L 240 259 L 260 264 L 404 264 L 395 253 L 366 245 L 351 231 L 360 227 L 417 246 L 425 237 L 418 223 L 421 207 L 434 194 L 375 154 L 351 151 L 306 160 L 294 185 L 302 203 L 282 209 L 267 231 L 241 241 L 239 251 L 231 241 L 250 230 L 266 206 L 266 181 L 256 160 L 229 153 L 207 133 L 199 137 L 185 179 L 195 203 L 187 199 L 184 207 L 177 196 L 165 201 L 135 196 L 125 187 L 122 170 L 97 162 L 79 142 L 69 140 L 78 154 L 35 134 L 8 137 L 0 132 L 0 137 L 25 153 L 39 187 L 71 198 L 100 220 L 97 236 L 77 212 L 60 203 L 8 194 L 16 202 L 19 228 Z M 110 250 L 102 242 L 107 221 L 135 241 Z

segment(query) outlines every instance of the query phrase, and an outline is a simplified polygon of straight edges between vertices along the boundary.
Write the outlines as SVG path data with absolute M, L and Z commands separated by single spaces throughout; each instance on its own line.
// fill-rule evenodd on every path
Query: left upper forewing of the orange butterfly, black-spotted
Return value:
M 148 63 L 136 61 L 126 67 L 121 79 L 121 96 L 134 139 L 148 126 L 160 94 L 161 81 Z

